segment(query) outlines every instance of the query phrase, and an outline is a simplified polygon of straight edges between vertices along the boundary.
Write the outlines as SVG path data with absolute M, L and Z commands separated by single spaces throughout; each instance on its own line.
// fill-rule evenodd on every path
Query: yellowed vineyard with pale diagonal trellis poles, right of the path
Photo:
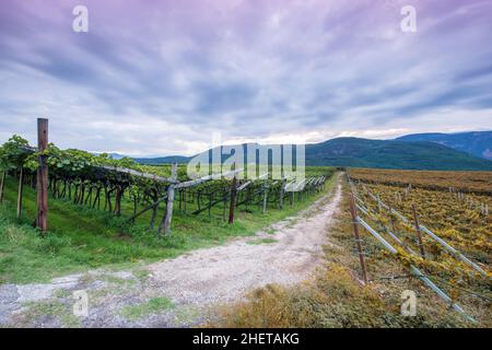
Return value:
M 364 243 L 375 240 L 375 256 L 409 269 L 467 319 L 490 308 L 490 173 L 352 170 L 349 178 L 364 279 Z

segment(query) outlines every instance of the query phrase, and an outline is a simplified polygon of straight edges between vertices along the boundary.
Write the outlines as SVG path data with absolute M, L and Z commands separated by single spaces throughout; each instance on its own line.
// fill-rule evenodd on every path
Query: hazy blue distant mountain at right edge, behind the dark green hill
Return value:
M 435 142 L 485 160 L 492 160 L 492 131 L 413 133 L 396 140 Z

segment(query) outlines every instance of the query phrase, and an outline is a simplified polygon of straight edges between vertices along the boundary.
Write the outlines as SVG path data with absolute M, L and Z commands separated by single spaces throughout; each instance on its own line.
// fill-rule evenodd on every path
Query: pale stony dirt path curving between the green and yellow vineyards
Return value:
M 256 236 L 130 271 L 95 270 L 49 284 L 0 285 L 0 325 L 197 325 L 214 305 L 239 300 L 251 289 L 309 278 L 323 259 L 326 229 L 340 199 L 338 178 L 329 195 Z M 73 291 L 87 293 L 87 317 L 73 316 Z

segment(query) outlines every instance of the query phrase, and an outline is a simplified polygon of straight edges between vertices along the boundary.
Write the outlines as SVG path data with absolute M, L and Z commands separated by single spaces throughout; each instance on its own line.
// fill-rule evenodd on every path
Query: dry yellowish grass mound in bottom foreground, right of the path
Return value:
M 398 304 L 377 290 L 356 283 L 350 270 L 329 264 L 305 284 L 285 288 L 270 284 L 251 292 L 245 302 L 222 310 L 212 327 L 232 328 L 366 328 L 449 327 L 462 323 L 442 306 L 438 315 L 400 315 Z M 437 305 L 437 307 L 441 305 Z

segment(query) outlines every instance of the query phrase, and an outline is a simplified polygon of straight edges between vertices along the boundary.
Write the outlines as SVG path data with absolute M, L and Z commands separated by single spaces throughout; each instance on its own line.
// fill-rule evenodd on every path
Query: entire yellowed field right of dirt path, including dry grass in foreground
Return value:
M 338 223 L 327 230 L 325 268 L 314 281 L 295 288 L 272 285 L 249 294 L 246 302 L 223 311 L 219 326 L 229 327 L 490 327 L 491 317 L 491 205 L 490 173 L 350 170 L 352 185 L 344 185 Z M 426 175 L 426 176 L 425 176 Z M 409 186 L 412 184 L 412 186 Z M 432 188 L 432 189 L 431 189 Z M 473 191 L 471 188 L 473 188 Z M 481 190 L 478 190 L 480 188 Z M 484 189 L 484 190 L 483 190 Z M 362 225 L 359 226 L 368 284 L 362 271 L 353 235 L 350 198 L 353 192 L 358 212 L 398 254 L 389 254 Z M 378 200 L 377 200 L 378 198 Z M 412 203 L 420 224 L 429 228 L 485 271 L 470 268 L 456 255 L 422 233 L 425 259 L 419 256 Z M 475 203 L 475 205 L 473 205 Z M 482 205 L 483 203 L 483 205 Z M 387 207 L 385 207 L 386 205 Z M 366 213 L 362 212 L 365 210 Z M 393 214 L 389 214 L 393 210 Z M 408 222 L 401 222 L 395 211 Z M 388 231 L 402 245 L 398 244 Z M 408 248 L 413 253 L 410 254 Z M 455 304 L 457 313 L 422 281 L 412 276 L 418 267 Z M 400 315 L 401 295 L 417 294 L 417 316 Z M 475 322 L 471 322 L 471 317 Z

